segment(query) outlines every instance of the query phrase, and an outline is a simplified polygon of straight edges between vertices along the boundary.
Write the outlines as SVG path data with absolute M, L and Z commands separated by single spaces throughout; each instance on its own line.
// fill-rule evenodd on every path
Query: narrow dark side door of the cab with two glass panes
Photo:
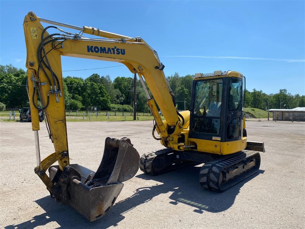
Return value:
M 228 100 L 226 106 L 226 141 L 242 138 L 242 79 L 231 77 L 228 83 Z

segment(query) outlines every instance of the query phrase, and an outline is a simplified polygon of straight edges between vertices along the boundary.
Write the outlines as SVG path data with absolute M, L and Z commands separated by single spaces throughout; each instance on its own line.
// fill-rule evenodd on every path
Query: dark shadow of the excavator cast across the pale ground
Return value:
M 155 181 L 156 184 L 136 189 L 130 197 L 115 203 L 106 216 L 91 223 L 69 205 L 56 204 L 54 199 L 46 196 L 35 201 L 46 213 L 34 216 L 31 220 L 20 224 L 6 226 L 5 229 L 33 229 L 53 221 L 59 225 L 59 228 L 108 228 L 116 226 L 123 220 L 125 212 L 152 200 L 159 194 L 168 192 L 172 193 L 168 204 L 190 205 L 193 207 L 192 211 L 199 214 L 204 213 L 204 211 L 221 212 L 231 207 L 240 188 L 247 181 L 264 173 L 264 170 L 259 170 L 256 174 L 229 190 L 223 193 L 216 193 L 200 186 L 198 181 L 199 171 L 200 167 L 188 167 L 160 176 L 150 176 L 144 173 L 137 175 L 137 178 L 143 179 L 143 184 L 145 184 L 145 180 Z

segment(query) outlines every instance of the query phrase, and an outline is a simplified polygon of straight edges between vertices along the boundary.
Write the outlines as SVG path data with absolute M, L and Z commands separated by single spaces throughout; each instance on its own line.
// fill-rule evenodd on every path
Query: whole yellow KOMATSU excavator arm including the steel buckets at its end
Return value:
M 41 22 L 52 25 L 43 27 Z M 81 32 L 66 32 L 56 25 Z M 166 147 L 179 150 L 183 145 L 178 143 L 183 132 L 183 117 L 180 115 L 179 118 L 174 106 L 174 96 L 163 73 L 164 65 L 156 51 L 140 37 L 131 38 L 93 27 L 63 24 L 39 18 L 33 12 L 25 16 L 23 28 L 27 47 L 27 91 L 37 156 L 35 173 L 56 202 L 70 204 L 90 221 L 95 220 L 114 204 L 123 187 L 121 182 L 135 175 L 140 158 L 129 139 L 107 138 L 102 162 L 96 172 L 81 165 L 70 164 L 61 56 L 119 62 L 132 73 L 137 73 L 148 97 L 147 104 L 156 120 L 154 129 L 160 134 L 158 140 Z M 49 33 L 50 30 L 55 32 Z M 96 38 L 86 38 L 84 33 L 95 35 Z M 153 98 L 150 97 L 143 78 Z M 38 96 L 42 107 L 38 107 Z M 163 123 L 154 100 L 160 107 L 166 124 Z M 38 108 L 45 112 L 47 130 L 55 149 L 54 153 L 43 160 L 39 150 Z M 59 165 L 52 166 L 56 161 Z M 85 203 L 90 204 L 84 207 Z

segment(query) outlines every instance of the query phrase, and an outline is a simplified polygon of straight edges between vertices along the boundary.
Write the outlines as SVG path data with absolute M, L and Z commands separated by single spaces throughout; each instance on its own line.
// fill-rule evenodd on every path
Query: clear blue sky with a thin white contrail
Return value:
M 0 64 L 26 69 L 22 24 L 29 11 L 80 27 L 141 36 L 158 52 L 166 76 L 235 70 L 246 76 L 250 91 L 269 94 L 285 88 L 305 94 L 305 1 L 0 0 Z M 62 65 L 76 70 L 119 64 L 63 56 Z M 125 66 L 63 76 L 93 73 L 132 77 Z

